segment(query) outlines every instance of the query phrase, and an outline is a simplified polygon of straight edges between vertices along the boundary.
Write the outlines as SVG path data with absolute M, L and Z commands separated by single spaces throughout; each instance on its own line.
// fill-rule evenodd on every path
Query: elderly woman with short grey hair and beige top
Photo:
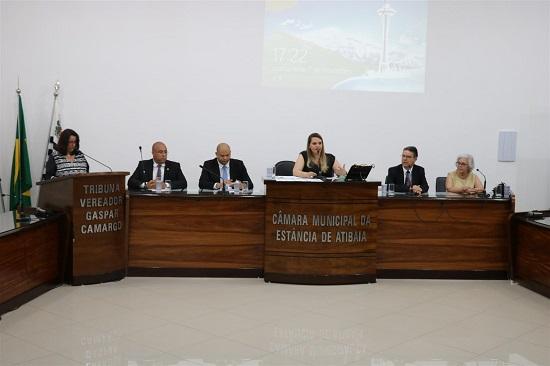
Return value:
M 474 157 L 470 154 L 462 154 L 456 158 L 456 170 L 447 174 L 445 187 L 447 192 L 476 194 L 483 192 L 483 184 L 475 175 Z

